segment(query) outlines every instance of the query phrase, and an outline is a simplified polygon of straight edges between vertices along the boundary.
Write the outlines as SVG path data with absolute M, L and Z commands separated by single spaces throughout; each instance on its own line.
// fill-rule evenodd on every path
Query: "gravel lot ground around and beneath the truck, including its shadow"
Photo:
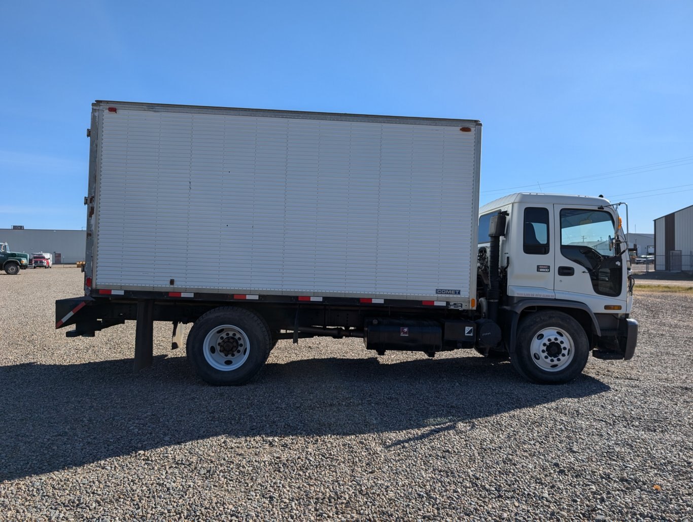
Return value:
M 472 351 L 280 341 L 211 388 L 169 328 L 67 339 L 82 274 L 0 275 L 0 519 L 693 520 L 693 297 L 647 294 L 635 359 L 533 385 Z

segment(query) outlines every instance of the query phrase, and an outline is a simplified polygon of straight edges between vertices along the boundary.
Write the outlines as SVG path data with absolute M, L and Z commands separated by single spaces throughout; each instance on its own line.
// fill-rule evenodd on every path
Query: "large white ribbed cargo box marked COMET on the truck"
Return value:
M 98 101 L 92 292 L 475 297 L 481 124 Z

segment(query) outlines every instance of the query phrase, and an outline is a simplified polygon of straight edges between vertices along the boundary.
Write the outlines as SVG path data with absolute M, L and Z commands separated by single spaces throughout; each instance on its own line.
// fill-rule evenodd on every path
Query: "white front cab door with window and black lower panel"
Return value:
M 610 248 L 615 236 L 613 214 L 591 206 L 554 205 L 554 223 L 556 299 L 590 295 L 598 309 L 599 301 L 623 295 L 623 258 L 614 256 Z

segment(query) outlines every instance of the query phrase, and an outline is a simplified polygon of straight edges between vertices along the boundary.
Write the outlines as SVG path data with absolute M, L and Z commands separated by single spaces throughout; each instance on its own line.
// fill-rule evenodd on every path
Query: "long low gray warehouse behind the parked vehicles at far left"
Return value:
M 12 252 L 27 254 L 49 252 L 53 254 L 53 262 L 56 264 L 76 263 L 85 259 L 87 232 L 85 230 L 0 228 L 0 243 L 8 243 Z

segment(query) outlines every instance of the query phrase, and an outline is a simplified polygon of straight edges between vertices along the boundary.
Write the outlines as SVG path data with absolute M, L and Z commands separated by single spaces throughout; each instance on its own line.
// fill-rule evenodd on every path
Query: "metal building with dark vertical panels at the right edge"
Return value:
M 693 270 L 693 205 L 654 220 L 655 270 Z

